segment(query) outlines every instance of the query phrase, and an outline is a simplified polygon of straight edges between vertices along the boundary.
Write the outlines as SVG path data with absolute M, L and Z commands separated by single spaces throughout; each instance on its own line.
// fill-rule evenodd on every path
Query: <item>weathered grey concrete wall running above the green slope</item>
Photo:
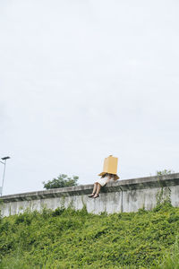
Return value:
M 72 206 L 75 210 L 84 205 L 89 213 L 136 212 L 140 208 L 151 210 L 157 204 L 162 187 L 170 192 L 171 202 L 179 206 L 179 173 L 162 177 L 134 178 L 108 183 L 101 189 L 99 198 L 89 198 L 93 185 L 56 188 L 46 191 L 2 196 L 4 216 L 21 213 L 27 208 L 41 211 L 44 207 Z

